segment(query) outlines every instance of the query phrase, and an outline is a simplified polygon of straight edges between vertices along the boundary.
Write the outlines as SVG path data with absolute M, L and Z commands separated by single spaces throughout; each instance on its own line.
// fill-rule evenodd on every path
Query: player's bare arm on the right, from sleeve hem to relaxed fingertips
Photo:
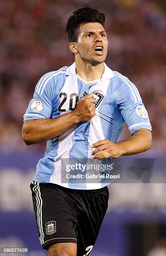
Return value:
M 140 152 L 146 151 L 151 148 L 152 145 L 152 134 L 147 129 L 140 129 L 133 133 L 126 141 L 120 141 L 114 143 L 109 140 L 97 141 L 92 145 L 92 148 L 96 148 L 92 155 L 101 151 L 94 158 L 102 159 L 119 156 L 133 155 Z

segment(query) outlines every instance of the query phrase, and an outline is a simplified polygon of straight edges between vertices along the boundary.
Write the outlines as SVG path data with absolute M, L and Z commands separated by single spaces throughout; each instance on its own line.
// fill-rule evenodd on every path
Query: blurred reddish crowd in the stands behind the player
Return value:
M 27 150 L 23 115 L 38 79 L 74 62 L 65 33 L 74 10 L 105 13 L 106 64 L 136 84 L 153 128 L 151 154 L 166 153 L 166 2 L 162 0 L 1 0 L 0 151 Z M 129 136 L 125 128 L 123 137 Z M 31 149 L 43 149 L 43 144 Z

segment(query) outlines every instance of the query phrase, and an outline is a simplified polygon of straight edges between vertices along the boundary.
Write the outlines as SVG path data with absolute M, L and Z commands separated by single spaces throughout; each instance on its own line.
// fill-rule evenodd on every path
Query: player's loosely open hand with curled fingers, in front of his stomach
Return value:
M 103 159 L 108 157 L 117 158 L 121 156 L 124 152 L 124 148 L 121 144 L 114 143 L 109 140 L 97 141 L 92 145 L 92 148 L 96 148 L 92 152 L 92 156 L 96 154 L 94 158 L 97 159 Z

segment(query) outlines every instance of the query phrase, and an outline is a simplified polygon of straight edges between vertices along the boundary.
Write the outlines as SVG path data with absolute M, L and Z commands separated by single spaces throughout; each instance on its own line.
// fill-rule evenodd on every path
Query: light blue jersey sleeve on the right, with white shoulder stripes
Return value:
M 137 87 L 130 80 L 121 82 L 116 99 L 116 108 L 123 116 L 131 134 L 141 128 L 152 131 L 148 112 Z

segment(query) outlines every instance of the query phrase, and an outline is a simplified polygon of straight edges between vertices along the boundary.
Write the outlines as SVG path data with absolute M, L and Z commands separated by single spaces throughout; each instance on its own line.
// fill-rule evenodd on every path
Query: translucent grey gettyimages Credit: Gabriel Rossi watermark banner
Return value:
M 61 159 L 61 183 L 150 183 L 155 159 Z

